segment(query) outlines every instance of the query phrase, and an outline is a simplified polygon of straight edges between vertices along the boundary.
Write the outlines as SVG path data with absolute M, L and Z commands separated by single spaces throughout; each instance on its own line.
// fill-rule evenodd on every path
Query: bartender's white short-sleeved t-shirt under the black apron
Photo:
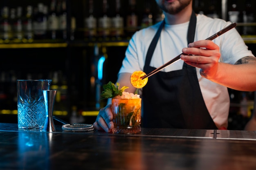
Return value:
M 131 38 L 126 56 L 123 60 L 119 73 L 133 73 L 144 68 L 148 47 L 159 27 L 159 23 L 137 31 Z M 205 40 L 231 24 L 221 19 L 212 19 L 205 15 L 197 15 L 195 41 Z M 189 22 L 175 25 L 164 25 L 160 38 L 157 42 L 150 66 L 158 68 L 170 61 L 187 46 L 187 30 Z M 213 42 L 220 47 L 220 62 L 235 64 L 240 58 L 254 56 L 236 29 L 231 29 Z M 183 61 L 179 60 L 161 71 L 169 72 L 182 69 Z M 218 128 L 227 128 L 229 114 L 229 94 L 227 87 L 221 86 L 208 79 L 201 77 L 200 69 L 196 68 L 199 85 L 207 109 Z M 150 78 L 149 80 L 150 81 Z M 146 113 L 145 113 L 146 114 Z

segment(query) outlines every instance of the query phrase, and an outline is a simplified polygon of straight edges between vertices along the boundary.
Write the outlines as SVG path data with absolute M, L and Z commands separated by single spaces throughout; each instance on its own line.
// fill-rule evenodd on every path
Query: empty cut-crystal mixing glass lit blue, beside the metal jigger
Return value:
M 46 119 L 43 90 L 49 90 L 51 79 L 17 80 L 19 130 L 43 130 Z

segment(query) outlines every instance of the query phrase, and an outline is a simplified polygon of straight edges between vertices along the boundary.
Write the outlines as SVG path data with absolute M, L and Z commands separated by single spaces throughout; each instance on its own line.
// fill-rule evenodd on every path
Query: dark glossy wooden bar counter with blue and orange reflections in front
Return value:
M 256 170 L 256 131 L 19 131 L 0 124 L 0 170 Z

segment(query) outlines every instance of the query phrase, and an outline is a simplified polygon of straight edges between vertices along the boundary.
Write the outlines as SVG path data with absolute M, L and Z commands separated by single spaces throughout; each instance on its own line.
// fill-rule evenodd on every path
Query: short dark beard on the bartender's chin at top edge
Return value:
M 185 9 L 191 2 L 191 0 L 180 0 L 180 5 L 179 6 L 167 6 L 167 5 L 164 5 L 164 4 L 161 4 L 159 5 L 159 7 L 165 11 L 166 13 L 169 13 L 171 15 L 175 15 L 177 13 L 179 13 L 180 11 L 182 11 L 183 9 Z

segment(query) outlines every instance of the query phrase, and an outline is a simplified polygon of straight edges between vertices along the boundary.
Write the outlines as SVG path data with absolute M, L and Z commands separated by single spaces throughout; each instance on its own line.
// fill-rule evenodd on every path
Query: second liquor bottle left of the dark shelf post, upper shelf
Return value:
M 48 15 L 48 20 L 47 20 L 47 30 L 48 30 L 48 38 L 55 40 L 56 39 L 56 31 L 59 28 L 59 20 L 58 16 L 56 14 L 56 0 L 51 1 L 50 5 L 50 12 Z

